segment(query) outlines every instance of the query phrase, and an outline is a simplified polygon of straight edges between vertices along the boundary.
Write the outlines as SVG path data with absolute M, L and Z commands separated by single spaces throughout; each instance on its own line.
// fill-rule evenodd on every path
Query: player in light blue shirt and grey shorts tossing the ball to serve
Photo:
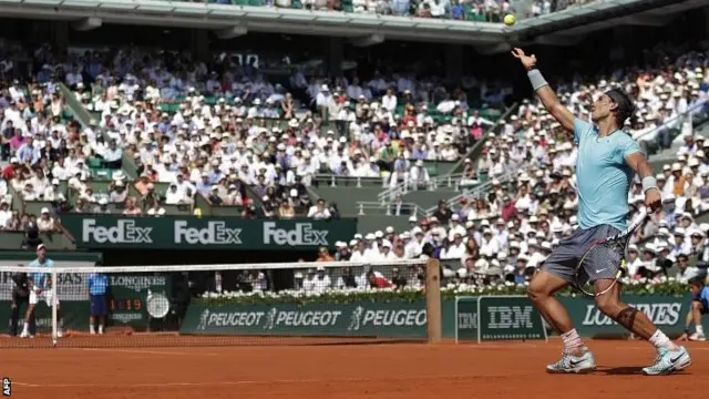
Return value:
M 620 129 L 634 112 L 633 100 L 621 90 L 612 89 L 595 99 L 592 122 L 574 115 L 558 100 L 549 84 L 536 68 L 536 57 L 526 55 L 521 49 L 512 54 L 527 70 L 527 76 L 546 111 L 567 131 L 574 132 L 578 144 L 576 181 L 578 190 L 578 229 L 541 265 L 530 284 L 527 295 L 549 325 L 562 336 L 562 359 L 547 366 L 548 372 L 590 372 L 596 362 L 568 313 L 554 298 L 554 293 L 573 284 L 579 256 L 593 243 L 618 234 L 626 228 L 628 191 L 635 173 L 643 180 L 645 205 L 656 211 L 661 205 L 653 168 L 640 153 L 638 144 Z M 593 264 L 585 260 L 596 293 L 596 306 L 606 316 L 653 344 L 657 348 L 655 365 L 643 369 L 645 375 L 666 375 L 690 365 L 689 354 L 677 346 L 641 311 L 620 301 L 620 285 L 614 284 L 619 264 Z

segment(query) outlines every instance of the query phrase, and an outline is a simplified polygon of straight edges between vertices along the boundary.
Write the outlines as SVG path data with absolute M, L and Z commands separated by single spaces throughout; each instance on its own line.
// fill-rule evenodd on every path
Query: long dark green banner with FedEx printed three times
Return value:
M 62 216 L 80 248 L 312 249 L 357 233 L 357 219 L 244 219 L 242 217 Z

